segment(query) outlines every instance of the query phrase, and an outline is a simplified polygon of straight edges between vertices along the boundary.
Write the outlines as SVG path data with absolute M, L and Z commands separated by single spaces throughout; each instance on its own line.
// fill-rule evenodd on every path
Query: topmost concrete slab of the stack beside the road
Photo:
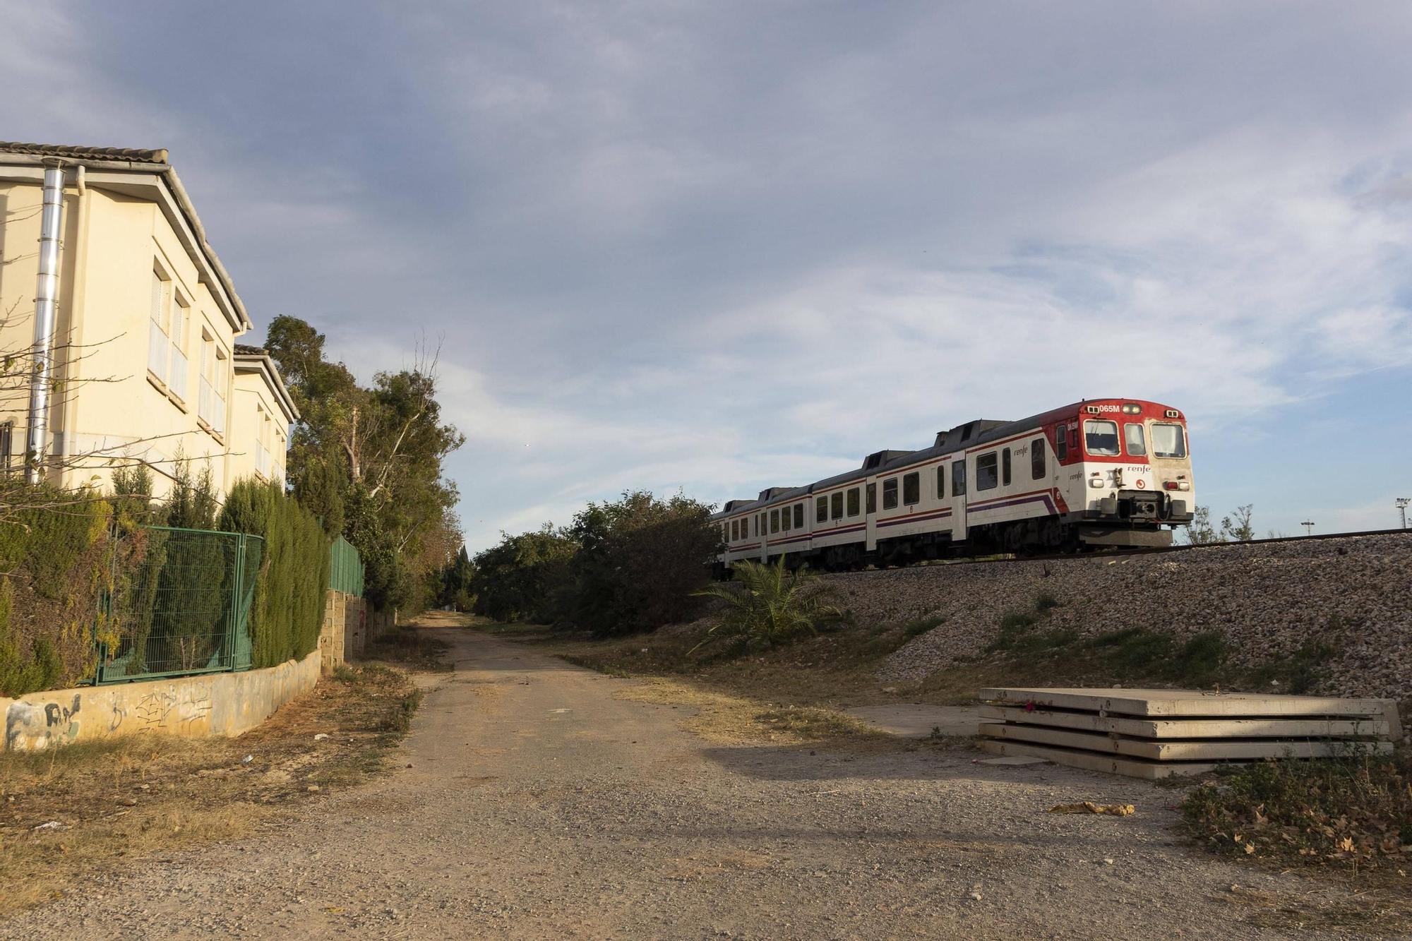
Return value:
M 993 687 L 980 698 L 998 705 L 1034 704 L 1059 709 L 1087 709 L 1135 716 L 1378 716 L 1387 715 L 1388 699 L 1340 699 L 1337 697 L 1291 697 L 1261 692 L 1210 692 L 1202 690 L 1124 688 L 1024 688 Z

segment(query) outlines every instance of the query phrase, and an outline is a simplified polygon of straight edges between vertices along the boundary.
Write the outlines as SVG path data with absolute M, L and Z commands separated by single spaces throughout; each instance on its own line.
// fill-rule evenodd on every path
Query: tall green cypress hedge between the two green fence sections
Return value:
M 250 615 L 253 665 L 274 667 L 312 651 L 329 585 L 329 543 L 318 519 L 278 483 L 239 480 L 219 527 L 264 537 Z

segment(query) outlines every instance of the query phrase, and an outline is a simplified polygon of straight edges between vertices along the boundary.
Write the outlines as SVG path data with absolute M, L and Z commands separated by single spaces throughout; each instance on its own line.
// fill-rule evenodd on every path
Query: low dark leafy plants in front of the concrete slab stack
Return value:
M 1217 852 L 1398 869 L 1412 845 L 1412 756 L 1248 764 L 1192 790 L 1182 817 Z

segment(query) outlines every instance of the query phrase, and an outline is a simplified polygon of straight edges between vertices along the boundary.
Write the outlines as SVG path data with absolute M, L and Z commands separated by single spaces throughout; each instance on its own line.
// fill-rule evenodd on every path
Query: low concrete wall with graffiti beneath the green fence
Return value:
M 117 735 L 240 735 L 319 681 L 319 651 L 267 670 L 78 687 L 0 699 L 3 750 Z

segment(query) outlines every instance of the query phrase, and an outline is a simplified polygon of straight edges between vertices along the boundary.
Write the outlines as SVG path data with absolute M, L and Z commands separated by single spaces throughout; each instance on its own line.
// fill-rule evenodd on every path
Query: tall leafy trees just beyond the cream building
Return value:
M 384 609 L 433 603 L 438 575 L 460 544 L 456 486 L 442 461 L 465 442 L 442 421 L 435 356 L 363 387 L 323 345 L 295 316 L 270 324 L 265 349 L 301 414 L 289 485 L 326 533 L 359 550 L 369 600 Z

